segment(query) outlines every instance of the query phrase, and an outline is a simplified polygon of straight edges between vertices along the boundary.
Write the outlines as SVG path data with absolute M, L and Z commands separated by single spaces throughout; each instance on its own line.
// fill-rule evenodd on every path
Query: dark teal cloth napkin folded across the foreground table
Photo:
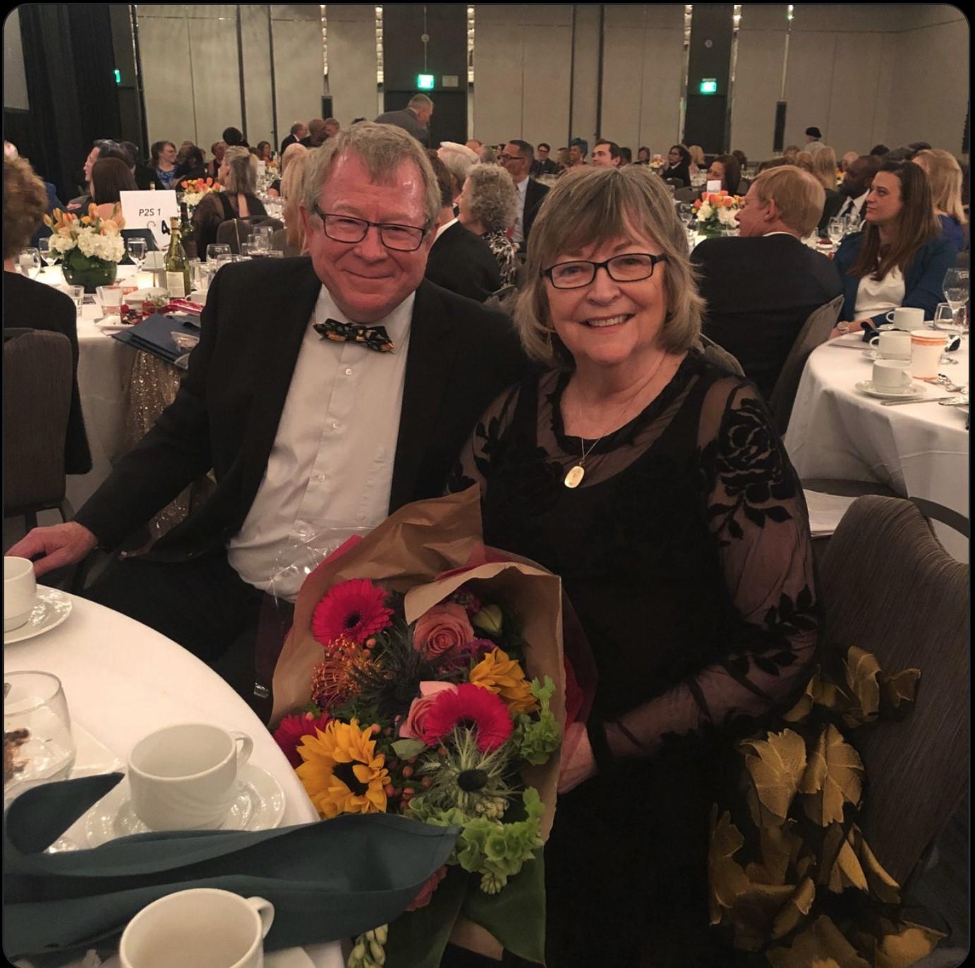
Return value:
M 267 950 L 353 937 L 406 910 L 447 863 L 459 832 L 368 814 L 272 831 L 137 833 L 93 850 L 43 853 L 121 779 L 35 787 L 5 811 L 8 958 L 57 952 L 67 960 L 105 947 L 137 911 L 191 887 L 270 901 Z

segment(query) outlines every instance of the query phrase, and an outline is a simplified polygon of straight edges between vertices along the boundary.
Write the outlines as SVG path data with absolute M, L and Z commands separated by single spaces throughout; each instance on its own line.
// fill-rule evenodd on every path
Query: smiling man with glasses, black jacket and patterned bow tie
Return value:
M 440 201 L 402 130 L 330 138 L 299 208 L 310 257 L 224 266 L 174 404 L 73 522 L 10 554 L 40 575 L 113 549 L 212 468 L 210 498 L 89 595 L 215 663 L 253 648 L 262 593 L 309 534 L 443 493 L 525 358 L 503 316 L 423 279 Z

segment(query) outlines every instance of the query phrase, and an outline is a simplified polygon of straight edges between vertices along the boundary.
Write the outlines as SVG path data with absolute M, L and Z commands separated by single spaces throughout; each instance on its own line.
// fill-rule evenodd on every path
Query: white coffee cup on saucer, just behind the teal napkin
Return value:
M 209 723 L 180 723 L 149 733 L 129 755 L 138 819 L 153 831 L 219 827 L 233 804 L 237 770 L 253 751 L 250 736 Z

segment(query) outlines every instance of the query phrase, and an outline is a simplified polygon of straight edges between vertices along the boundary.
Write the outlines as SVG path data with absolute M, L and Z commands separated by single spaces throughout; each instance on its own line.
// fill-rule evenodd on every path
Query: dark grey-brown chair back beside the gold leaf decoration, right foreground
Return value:
M 867 495 L 843 515 L 819 570 L 826 640 L 873 652 L 886 675 L 921 673 L 903 721 L 853 735 L 869 781 L 858 823 L 910 892 L 968 786 L 968 565 L 911 501 Z

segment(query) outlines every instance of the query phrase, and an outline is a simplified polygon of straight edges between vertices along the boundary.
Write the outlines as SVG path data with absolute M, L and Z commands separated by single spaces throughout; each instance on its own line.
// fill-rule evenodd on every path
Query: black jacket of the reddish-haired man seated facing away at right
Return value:
M 767 399 L 806 318 L 841 292 L 836 266 L 791 235 L 706 239 L 690 259 L 708 303 L 704 334 Z

